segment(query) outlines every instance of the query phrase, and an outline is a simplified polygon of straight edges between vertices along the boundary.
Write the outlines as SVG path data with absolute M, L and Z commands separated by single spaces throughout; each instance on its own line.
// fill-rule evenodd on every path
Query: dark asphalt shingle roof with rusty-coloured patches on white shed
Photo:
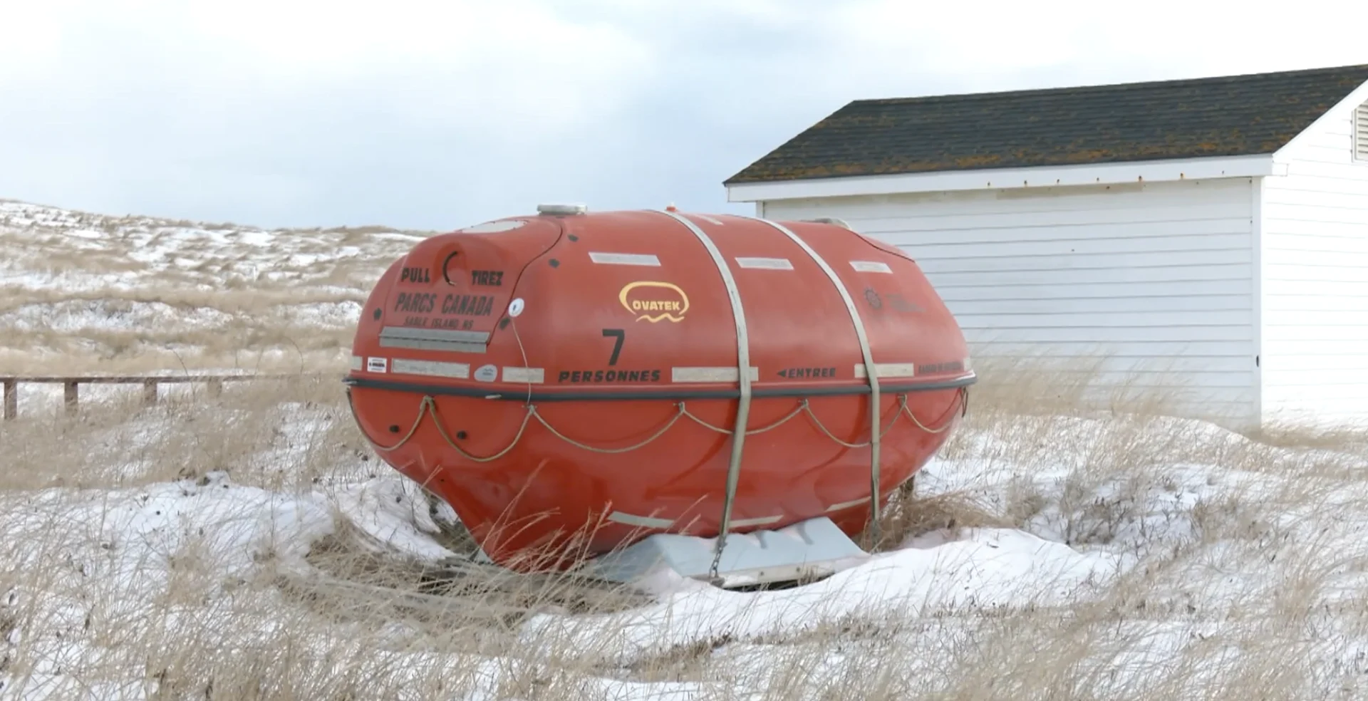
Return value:
M 1368 64 L 855 100 L 724 182 L 1271 153 L 1365 81 Z

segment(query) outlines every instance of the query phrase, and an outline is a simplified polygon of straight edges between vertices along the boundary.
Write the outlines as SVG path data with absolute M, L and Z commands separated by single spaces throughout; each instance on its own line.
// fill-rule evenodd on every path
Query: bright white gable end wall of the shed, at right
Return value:
M 1313 126 L 1264 178 L 1267 419 L 1368 419 L 1368 108 Z

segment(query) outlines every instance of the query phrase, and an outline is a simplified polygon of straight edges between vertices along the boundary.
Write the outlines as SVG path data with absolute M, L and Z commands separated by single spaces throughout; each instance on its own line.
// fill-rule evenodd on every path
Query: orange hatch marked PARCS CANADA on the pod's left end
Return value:
M 417 244 L 386 296 L 380 345 L 483 352 L 523 268 L 561 230 L 555 216 L 498 219 Z

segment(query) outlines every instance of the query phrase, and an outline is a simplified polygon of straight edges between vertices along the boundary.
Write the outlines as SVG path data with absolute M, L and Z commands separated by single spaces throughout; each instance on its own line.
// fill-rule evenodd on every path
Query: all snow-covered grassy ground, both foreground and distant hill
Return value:
M 342 357 L 421 235 L 0 201 L 0 374 Z M 1368 435 L 985 390 L 889 509 L 893 548 L 798 589 L 591 597 L 431 591 L 450 519 L 335 379 L 153 408 L 83 386 L 75 419 L 25 385 L 0 422 L 0 698 L 1368 698 Z

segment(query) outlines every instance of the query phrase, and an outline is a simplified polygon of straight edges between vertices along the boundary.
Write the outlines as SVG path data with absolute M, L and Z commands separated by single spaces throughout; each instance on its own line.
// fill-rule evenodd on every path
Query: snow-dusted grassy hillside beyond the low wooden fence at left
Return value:
M 342 363 L 371 286 L 425 235 L 0 200 L 0 372 Z

